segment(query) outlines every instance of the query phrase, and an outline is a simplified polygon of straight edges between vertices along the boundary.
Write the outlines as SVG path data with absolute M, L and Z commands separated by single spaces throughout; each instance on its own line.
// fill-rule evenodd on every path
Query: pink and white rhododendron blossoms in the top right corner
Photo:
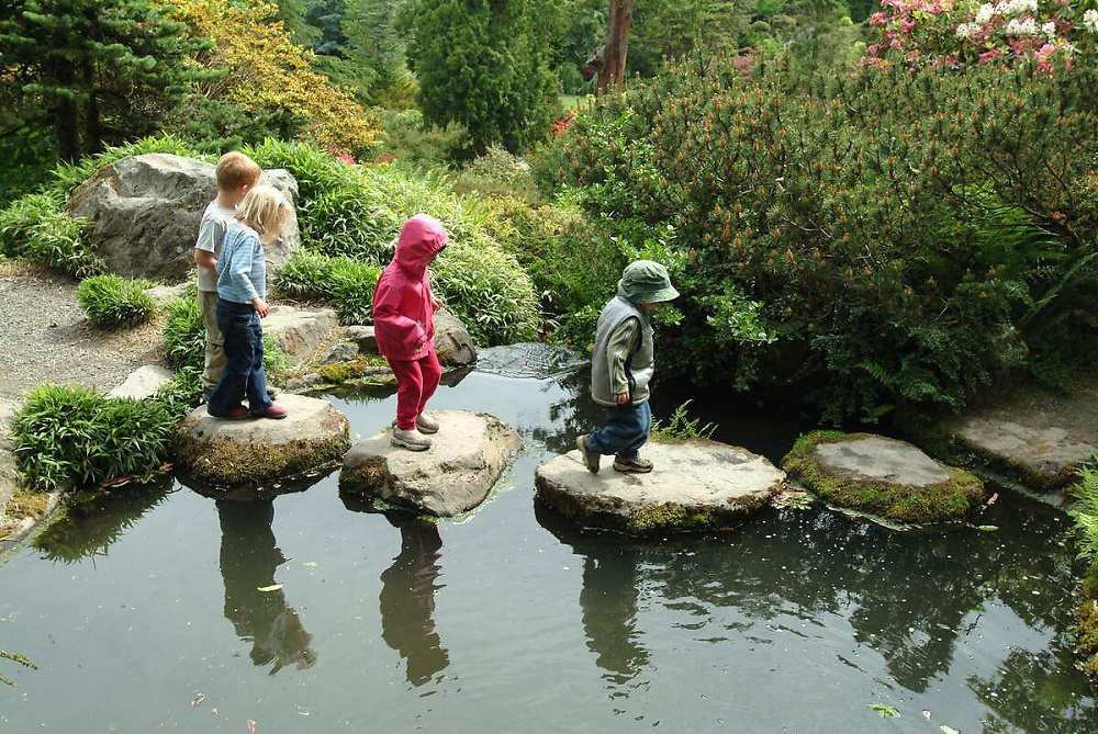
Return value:
M 882 0 L 870 15 L 879 36 L 864 61 L 915 69 L 1010 65 L 1030 60 L 1042 74 L 1069 70 L 1098 34 L 1098 10 L 1071 0 Z

